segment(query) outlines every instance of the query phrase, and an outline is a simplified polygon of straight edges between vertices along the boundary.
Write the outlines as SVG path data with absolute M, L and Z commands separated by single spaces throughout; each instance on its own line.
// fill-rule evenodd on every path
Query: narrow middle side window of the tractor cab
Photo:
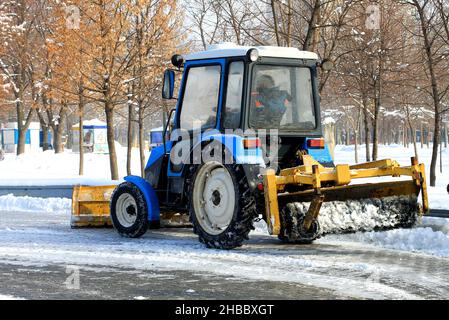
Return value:
M 228 89 L 226 105 L 223 114 L 223 127 L 237 129 L 240 127 L 242 111 L 244 65 L 242 61 L 232 62 L 229 65 Z

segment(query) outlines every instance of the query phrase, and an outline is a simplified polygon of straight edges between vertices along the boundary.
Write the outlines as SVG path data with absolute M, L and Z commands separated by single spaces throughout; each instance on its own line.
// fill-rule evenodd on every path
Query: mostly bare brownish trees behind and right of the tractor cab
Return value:
M 339 112 L 344 112 L 342 106 L 354 107 L 349 123 L 354 131 L 364 131 L 367 160 L 378 157 L 382 113 L 430 113 L 433 130 L 430 184 L 435 185 L 441 120 L 448 111 L 447 1 L 189 0 L 189 3 L 189 27 L 196 34 L 199 47 L 222 41 L 293 46 L 333 60 L 336 69 L 320 75 L 322 105 Z M 411 125 L 410 121 L 407 123 Z

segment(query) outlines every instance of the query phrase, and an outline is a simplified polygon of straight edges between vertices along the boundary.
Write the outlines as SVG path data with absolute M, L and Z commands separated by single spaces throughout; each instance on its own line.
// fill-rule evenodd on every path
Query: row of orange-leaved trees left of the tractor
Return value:
M 77 109 L 81 131 L 86 106 L 94 106 L 108 124 L 116 180 L 114 114 L 125 109 L 129 127 L 138 126 L 143 171 L 144 119 L 160 105 L 160 75 L 180 41 L 179 27 L 175 0 L 2 1 L 0 91 L 2 105 L 16 110 L 17 153 L 25 151 L 34 116 L 44 141 L 53 131 L 58 153 L 69 110 Z M 81 138 L 80 174 L 83 167 Z

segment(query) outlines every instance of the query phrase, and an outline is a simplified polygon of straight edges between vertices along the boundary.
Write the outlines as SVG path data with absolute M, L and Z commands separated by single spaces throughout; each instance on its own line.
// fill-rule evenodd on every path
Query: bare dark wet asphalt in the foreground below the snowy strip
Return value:
M 24 299 L 342 299 L 311 286 L 187 271 L 0 262 L 0 294 Z M 74 278 L 79 272 L 79 282 Z M 79 283 L 79 286 L 77 285 Z

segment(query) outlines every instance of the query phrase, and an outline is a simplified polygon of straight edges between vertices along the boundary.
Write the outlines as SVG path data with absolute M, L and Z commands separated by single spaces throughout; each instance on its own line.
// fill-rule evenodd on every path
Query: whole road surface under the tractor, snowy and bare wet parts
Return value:
M 447 299 L 449 260 L 262 233 L 209 250 L 189 229 L 120 238 L 67 214 L 0 212 L 0 296 L 24 299 Z M 79 281 L 78 281 L 79 280 Z M 79 285 L 78 285 L 79 284 Z

